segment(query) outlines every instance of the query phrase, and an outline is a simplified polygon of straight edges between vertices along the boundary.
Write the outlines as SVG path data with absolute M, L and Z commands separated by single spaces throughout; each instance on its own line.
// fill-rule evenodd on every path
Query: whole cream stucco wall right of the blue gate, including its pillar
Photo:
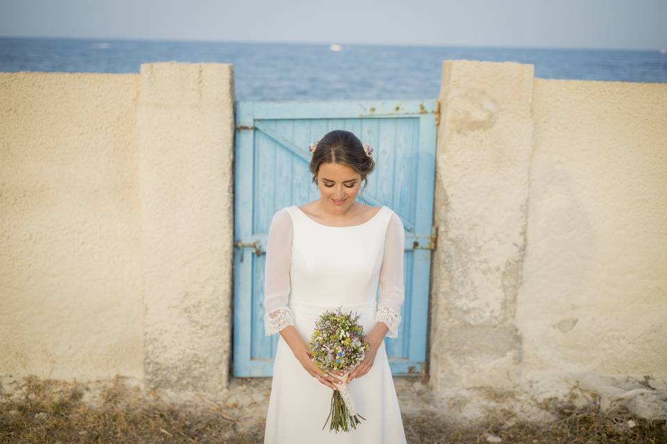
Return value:
M 667 85 L 447 61 L 429 384 L 667 381 Z

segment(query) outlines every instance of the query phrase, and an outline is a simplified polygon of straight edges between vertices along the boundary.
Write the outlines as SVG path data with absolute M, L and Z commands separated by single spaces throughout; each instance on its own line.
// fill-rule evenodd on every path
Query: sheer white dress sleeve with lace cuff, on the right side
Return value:
M 375 321 L 389 327 L 386 336 L 398 337 L 398 325 L 401 323 L 401 305 L 405 299 L 403 262 L 405 250 L 405 232 L 403 222 L 394 213 L 389 219 L 384 256 L 380 268 L 380 292 L 377 302 Z

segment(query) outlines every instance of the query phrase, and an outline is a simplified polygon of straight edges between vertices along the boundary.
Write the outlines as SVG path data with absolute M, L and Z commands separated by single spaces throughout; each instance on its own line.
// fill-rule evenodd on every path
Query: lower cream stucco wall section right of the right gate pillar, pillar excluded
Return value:
M 667 85 L 536 79 L 526 378 L 667 384 Z

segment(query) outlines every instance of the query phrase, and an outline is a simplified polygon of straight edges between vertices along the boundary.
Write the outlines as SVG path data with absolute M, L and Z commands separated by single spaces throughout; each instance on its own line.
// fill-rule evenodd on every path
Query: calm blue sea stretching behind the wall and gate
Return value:
M 232 63 L 237 99 L 436 99 L 443 60 L 532 63 L 535 76 L 667 83 L 660 51 L 157 42 L 0 37 L 0 71 L 137 73 L 140 64 Z

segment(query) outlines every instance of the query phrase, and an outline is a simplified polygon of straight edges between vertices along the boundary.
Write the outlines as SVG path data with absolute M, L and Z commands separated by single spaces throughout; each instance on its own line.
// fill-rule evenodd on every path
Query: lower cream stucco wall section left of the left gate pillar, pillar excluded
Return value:
M 0 74 L 0 374 L 143 375 L 138 92 Z

